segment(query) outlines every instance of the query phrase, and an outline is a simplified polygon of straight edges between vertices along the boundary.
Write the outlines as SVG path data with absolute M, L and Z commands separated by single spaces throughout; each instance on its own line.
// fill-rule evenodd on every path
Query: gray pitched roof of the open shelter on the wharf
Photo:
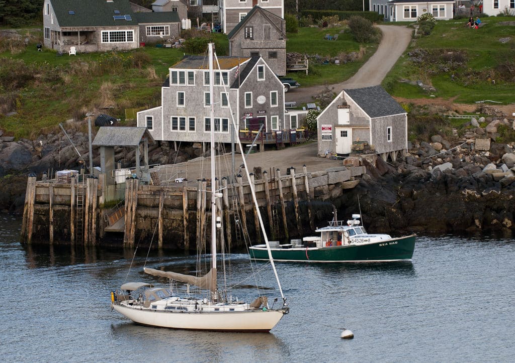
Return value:
M 138 146 L 146 136 L 148 143 L 156 143 L 147 128 L 130 128 L 126 126 L 102 126 L 93 140 L 93 146 Z

